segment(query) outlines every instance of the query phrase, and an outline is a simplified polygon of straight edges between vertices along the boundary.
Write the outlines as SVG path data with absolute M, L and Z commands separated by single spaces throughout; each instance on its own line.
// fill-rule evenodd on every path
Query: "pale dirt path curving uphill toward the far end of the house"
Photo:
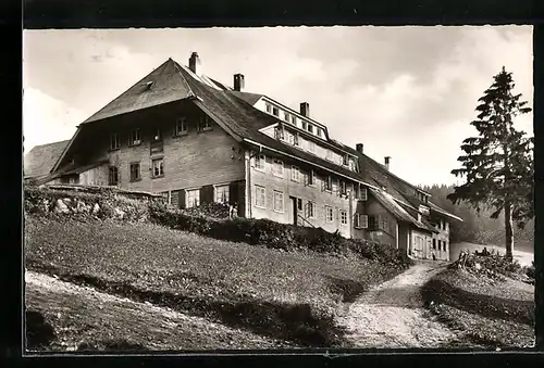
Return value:
M 356 347 L 438 347 L 459 345 L 458 337 L 424 308 L 420 289 L 445 264 L 418 262 L 374 287 L 338 317 Z

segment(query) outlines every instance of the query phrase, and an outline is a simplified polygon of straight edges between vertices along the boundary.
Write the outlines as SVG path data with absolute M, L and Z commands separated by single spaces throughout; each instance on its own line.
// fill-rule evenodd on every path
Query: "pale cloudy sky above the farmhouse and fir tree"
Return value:
M 169 58 L 299 110 L 333 139 L 415 185 L 460 183 L 460 144 L 478 99 L 505 66 L 533 105 L 532 26 L 25 30 L 24 150 L 76 126 Z M 516 122 L 533 135 L 532 113 Z

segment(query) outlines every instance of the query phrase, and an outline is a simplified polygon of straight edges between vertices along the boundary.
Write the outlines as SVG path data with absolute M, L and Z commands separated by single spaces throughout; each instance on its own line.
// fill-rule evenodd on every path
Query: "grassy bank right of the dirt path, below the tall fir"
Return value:
M 450 328 L 490 347 L 534 344 L 534 287 L 446 269 L 423 288 L 431 309 Z

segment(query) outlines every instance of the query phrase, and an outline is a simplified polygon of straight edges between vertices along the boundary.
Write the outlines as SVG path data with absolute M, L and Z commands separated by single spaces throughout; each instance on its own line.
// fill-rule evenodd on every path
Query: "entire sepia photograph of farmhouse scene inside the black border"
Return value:
M 24 354 L 534 347 L 532 37 L 25 29 Z

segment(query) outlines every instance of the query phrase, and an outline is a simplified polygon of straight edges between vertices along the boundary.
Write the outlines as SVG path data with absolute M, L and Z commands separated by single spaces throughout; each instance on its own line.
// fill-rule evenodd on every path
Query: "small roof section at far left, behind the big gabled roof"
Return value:
M 34 147 L 24 157 L 24 177 L 40 177 L 49 174 L 70 140 Z

